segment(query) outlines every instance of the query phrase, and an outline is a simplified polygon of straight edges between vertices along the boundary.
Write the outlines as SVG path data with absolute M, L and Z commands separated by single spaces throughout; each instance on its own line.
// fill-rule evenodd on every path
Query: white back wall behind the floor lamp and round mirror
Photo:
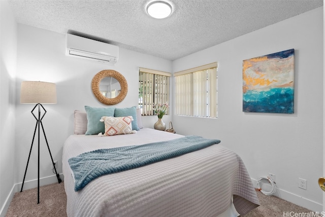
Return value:
M 20 84 L 22 81 L 45 81 L 56 83 L 57 104 L 44 104 L 47 114 L 43 119 L 46 137 L 54 160 L 58 162 L 58 172 L 62 172 L 61 155 L 64 140 L 73 134 L 73 112 L 84 110 L 84 105 L 104 107 L 91 91 L 91 80 L 103 69 L 113 69 L 121 73 L 128 84 L 125 99 L 116 107 L 138 105 L 139 67 L 170 71 L 169 60 L 145 55 L 125 49 L 119 50 L 119 60 L 115 65 L 107 65 L 65 55 L 66 36 L 64 34 L 18 25 L 18 66 L 16 79 L 16 180 L 22 182 L 36 120 L 30 114 L 32 104 L 20 104 Z M 157 117 L 144 117 L 145 127 L 153 128 Z M 170 116 L 166 116 L 166 121 Z M 43 138 L 43 135 L 41 135 Z M 44 139 L 41 139 L 41 185 L 56 182 L 52 173 L 51 160 Z M 49 178 L 45 178 L 48 177 Z M 61 175 L 62 176 L 62 175 Z M 37 179 L 37 139 L 31 154 L 24 189 L 36 187 Z M 32 181 L 34 180 L 34 181 Z M 32 182 L 29 182 L 32 181 Z

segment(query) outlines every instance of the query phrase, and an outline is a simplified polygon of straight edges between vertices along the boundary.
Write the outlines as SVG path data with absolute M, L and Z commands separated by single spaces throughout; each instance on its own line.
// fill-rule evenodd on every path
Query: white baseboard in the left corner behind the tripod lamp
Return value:
M 60 178 L 61 178 L 62 181 L 64 180 L 63 174 L 60 174 Z M 51 175 L 51 176 L 40 178 L 40 186 L 46 186 L 46 185 L 50 185 L 50 184 L 53 184 L 53 183 L 56 183 L 56 182 L 57 182 L 56 175 Z M 7 213 L 7 210 L 9 208 L 10 202 L 11 202 L 12 198 L 14 197 L 15 193 L 19 192 L 21 190 L 21 185 L 22 185 L 22 183 L 17 183 L 12 187 L 12 189 L 11 189 L 11 191 L 10 191 L 4 205 L 1 207 L 0 217 L 5 217 L 6 216 L 6 213 Z M 32 189 L 32 188 L 37 188 L 37 179 L 29 180 L 29 181 L 24 182 L 23 191 L 27 190 L 27 189 Z

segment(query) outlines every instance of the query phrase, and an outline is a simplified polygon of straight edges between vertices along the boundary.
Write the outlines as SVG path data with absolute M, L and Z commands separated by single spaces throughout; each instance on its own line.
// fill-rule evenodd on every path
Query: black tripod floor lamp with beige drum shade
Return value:
M 22 186 L 21 186 L 20 192 L 22 192 L 22 188 L 24 186 L 25 176 L 26 176 L 28 163 L 29 163 L 29 158 L 30 158 L 30 153 L 31 153 L 31 149 L 32 149 L 32 144 L 34 143 L 36 130 L 38 130 L 38 178 L 37 178 L 37 180 L 38 180 L 37 192 L 38 193 L 37 193 L 37 203 L 39 204 L 40 203 L 40 125 L 42 127 L 43 134 L 44 134 L 44 137 L 45 137 L 45 141 L 46 141 L 46 144 L 47 144 L 47 148 L 48 148 L 49 153 L 50 153 L 50 157 L 51 157 L 51 160 L 52 160 L 53 168 L 55 170 L 57 181 L 58 181 L 58 183 L 61 183 L 61 178 L 60 178 L 60 175 L 56 172 L 55 164 L 54 164 L 54 161 L 53 161 L 53 158 L 52 158 L 52 154 L 51 154 L 50 147 L 49 147 L 49 144 L 48 144 L 47 139 L 46 139 L 46 135 L 45 135 L 45 131 L 44 131 L 43 123 L 42 123 L 42 119 L 44 118 L 44 116 L 46 114 L 46 110 L 43 107 L 42 103 L 43 104 L 56 104 L 56 88 L 55 88 L 55 84 L 49 83 L 49 82 L 40 82 L 40 81 L 23 81 L 21 83 L 21 90 L 20 90 L 20 103 L 21 104 L 35 104 L 36 103 L 34 108 L 31 110 L 31 114 L 36 119 L 36 125 L 35 125 L 34 135 L 32 136 L 29 156 L 28 156 L 27 165 L 26 165 L 25 174 L 24 174 L 24 179 L 22 181 Z M 36 107 L 38 107 L 38 110 L 39 110 L 37 116 L 34 114 L 34 110 L 35 110 Z M 44 111 L 44 114 L 42 116 L 41 116 L 41 108 Z

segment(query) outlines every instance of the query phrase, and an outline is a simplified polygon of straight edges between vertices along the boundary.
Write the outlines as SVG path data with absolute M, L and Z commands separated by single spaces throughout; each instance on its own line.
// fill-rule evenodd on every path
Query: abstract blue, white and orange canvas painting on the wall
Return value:
M 243 61 L 243 112 L 294 113 L 295 49 Z

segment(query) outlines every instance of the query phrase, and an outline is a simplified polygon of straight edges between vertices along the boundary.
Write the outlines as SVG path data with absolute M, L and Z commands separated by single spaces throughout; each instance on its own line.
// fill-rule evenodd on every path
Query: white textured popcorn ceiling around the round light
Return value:
M 18 23 L 76 33 L 169 60 L 323 5 L 315 0 L 168 0 L 172 15 L 154 19 L 145 10 L 149 2 L 9 0 Z

